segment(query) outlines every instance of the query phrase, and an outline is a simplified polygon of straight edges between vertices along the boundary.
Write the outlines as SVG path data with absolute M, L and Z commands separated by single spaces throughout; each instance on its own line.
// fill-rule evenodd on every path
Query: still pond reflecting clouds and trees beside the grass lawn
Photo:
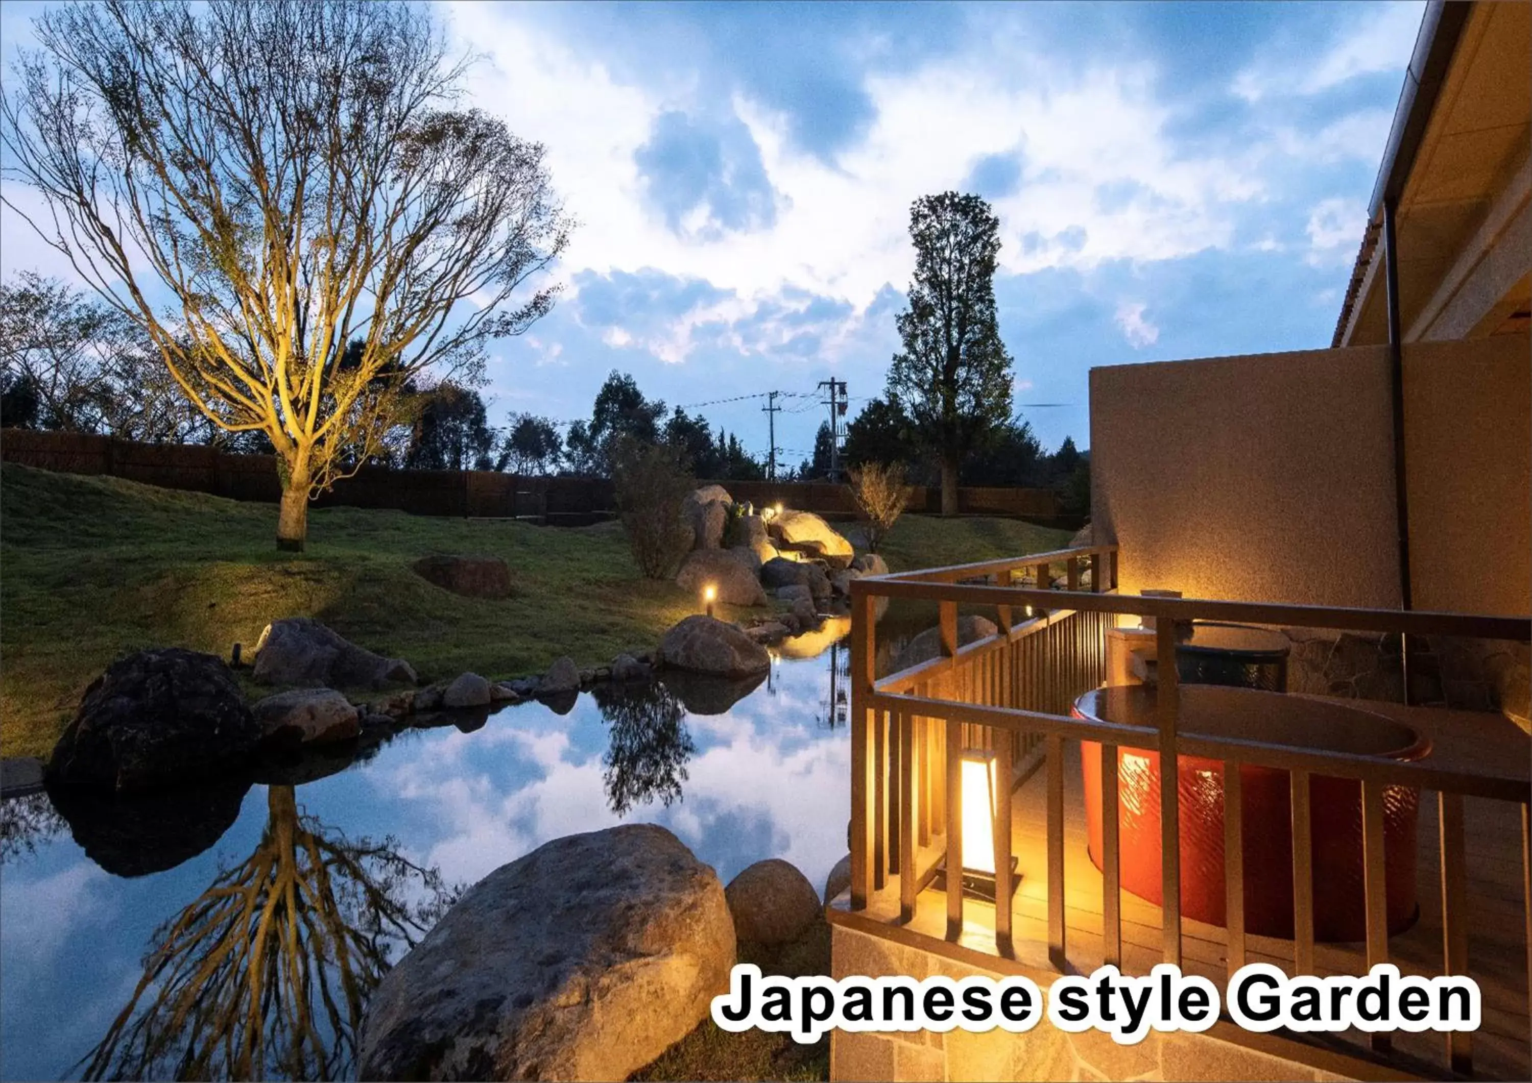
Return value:
M 760 682 L 444 720 L 162 806 L 5 801 L 0 1077 L 351 1075 L 403 945 L 562 835 L 656 823 L 723 882 L 784 858 L 823 885 L 846 853 L 846 631 L 787 640 Z

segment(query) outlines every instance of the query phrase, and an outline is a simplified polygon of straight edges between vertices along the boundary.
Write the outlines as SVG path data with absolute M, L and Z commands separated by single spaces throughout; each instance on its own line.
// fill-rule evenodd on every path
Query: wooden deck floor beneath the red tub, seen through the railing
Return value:
M 1368 703 L 1367 706 L 1374 706 Z M 1403 708 L 1386 709 L 1394 714 Z M 1422 712 L 1411 711 L 1411 721 L 1420 725 Z M 1527 769 L 1529 743 L 1524 734 L 1492 715 L 1463 712 L 1429 712 L 1425 728 L 1432 731 L 1439 754 L 1454 764 L 1474 760 L 1494 761 L 1494 774 Z M 1065 744 L 1065 925 L 1066 967 L 1089 973 L 1103 960 L 1102 950 L 1102 873 L 1091 864 L 1085 838 L 1085 803 L 1080 783 L 1079 743 Z M 1520 764 L 1520 766 L 1518 766 Z M 1486 763 L 1489 766 L 1489 763 Z M 1031 775 L 1013 801 L 1013 847 L 1019 858 L 1020 887 L 1014 904 L 1014 959 L 1034 971 L 1056 970 L 1048 957 L 1048 853 L 1046 853 L 1046 771 Z M 1527 1014 L 1527 942 L 1526 901 L 1523 898 L 1523 856 L 1520 807 L 1507 801 L 1468 800 L 1466 862 L 1468 862 L 1468 973 L 1483 994 L 1483 1026 L 1472 1036 L 1475 1078 L 1532 1077 L 1532 1022 Z M 1403 973 L 1440 974 L 1443 959 L 1440 859 L 1437 835 L 1437 795 L 1422 793 L 1420 801 L 1420 919 L 1408 931 L 1388 942 L 1390 960 Z M 922 849 L 919 867 L 936 858 L 935 849 Z M 884 888 L 869 899 L 864 918 L 885 925 L 899 919 L 898 878 L 890 876 Z M 844 904 L 843 904 L 844 905 Z M 965 928 L 958 944 L 985 956 L 996 956 L 993 907 L 968 899 Z M 1123 892 L 1123 970 L 1147 973 L 1161 960 L 1160 907 Z M 942 939 L 945 931 L 945 895 L 931 888 L 922 892 L 916 919 L 904 933 L 919 933 Z M 1227 956 L 1224 930 L 1196 921 L 1183 922 L 1183 968 L 1198 973 L 1224 988 Z M 999 959 L 996 959 L 999 962 Z M 1273 962 L 1293 973 L 1293 944 L 1272 937 L 1250 936 L 1247 962 Z M 1362 974 L 1367 971 L 1363 944 L 1321 944 L 1314 951 L 1316 970 L 1325 974 Z M 1003 967 L 1003 965 L 1002 965 Z M 1295 1036 L 1298 1037 L 1298 1036 Z M 1374 1058 L 1365 1034 L 1307 1036 L 1308 1045 L 1334 1052 Z M 1393 1036 L 1388 1062 L 1406 1072 L 1448 1078 L 1446 1039 L 1440 1034 Z

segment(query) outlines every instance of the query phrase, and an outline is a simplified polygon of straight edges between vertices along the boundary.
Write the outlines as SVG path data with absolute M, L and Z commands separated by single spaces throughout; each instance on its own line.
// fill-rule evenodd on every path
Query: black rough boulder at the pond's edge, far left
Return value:
M 86 689 L 49 775 L 119 792 L 187 786 L 241 766 L 260 737 L 222 659 L 179 646 L 138 651 Z

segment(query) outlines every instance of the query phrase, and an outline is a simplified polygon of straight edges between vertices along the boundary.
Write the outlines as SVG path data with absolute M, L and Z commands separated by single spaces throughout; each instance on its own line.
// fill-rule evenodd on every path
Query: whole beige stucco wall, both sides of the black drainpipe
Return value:
M 1526 335 L 1405 346 L 1420 610 L 1532 613 Z M 1092 518 L 1123 590 L 1399 605 L 1388 348 L 1091 371 Z

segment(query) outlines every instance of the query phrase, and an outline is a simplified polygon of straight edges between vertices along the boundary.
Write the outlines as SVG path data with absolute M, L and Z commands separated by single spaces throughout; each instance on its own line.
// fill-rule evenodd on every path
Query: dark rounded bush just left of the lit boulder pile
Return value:
M 668 579 L 691 545 L 682 506 L 697 481 L 682 466 L 679 449 L 622 437 L 611 447 L 617 518 L 633 559 L 648 579 Z

